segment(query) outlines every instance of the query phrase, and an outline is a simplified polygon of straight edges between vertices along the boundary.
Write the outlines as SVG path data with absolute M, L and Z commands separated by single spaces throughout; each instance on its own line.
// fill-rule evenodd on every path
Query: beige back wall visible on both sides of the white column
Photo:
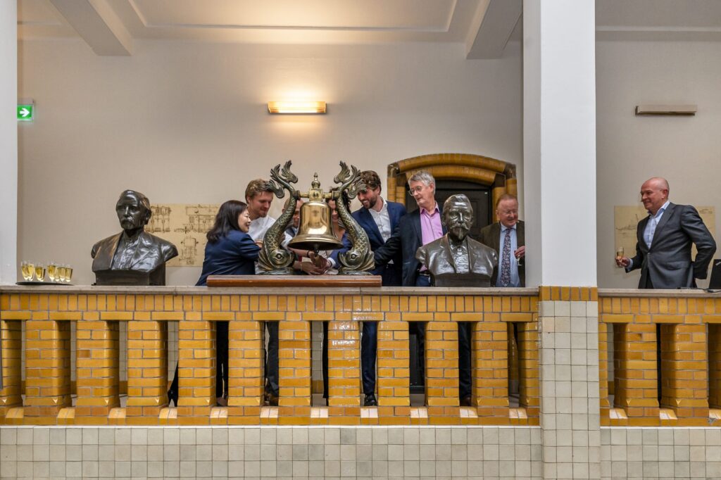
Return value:
M 136 47 L 112 58 L 79 40 L 20 43 L 19 97 L 35 99 L 37 120 L 19 125 L 18 261 L 71 263 L 92 283 L 89 249 L 118 231 L 120 191 L 220 203 L 286 159 L 301 188 L 315 170 L 328 187 L 341 159 L 385 177 L 393 161 L 441 151 L 515 163 L 523 185 L 518 45 L 497 61 L 466 61 L 459 45 Z M 721 44 L 596 47 L 598 285 L 633 288 L 637 273 L 611 258 L 614 205 L 636 204 L 641 182 L 662 175 L 676 203 L 721 206 Z M 294 91 L 326 100 L 328 115 L 267 115 L 267 100 Z M 641 103 L 699 112 L 635 117 Z M 169 284 L 198 273 L 170 269 Z

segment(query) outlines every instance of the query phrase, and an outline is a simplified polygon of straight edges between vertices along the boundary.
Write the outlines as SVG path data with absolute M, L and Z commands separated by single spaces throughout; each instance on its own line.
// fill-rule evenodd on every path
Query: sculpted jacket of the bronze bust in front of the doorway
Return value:
M 485 286 L 493 274 L 493 270 L 498 265 L 498 254 L 490 246 L 486 246 L 479 241 L 475 241 L 466 236 L 466 247 L 468 248 L 469 257 L 469 279 L 485 277 Z M 418 248 L 416 258 L 419 262 L 428 268 L 433 277 L 443 274 L 456 273 L 456 262 L 453 254 L 451 254 L 451 244 L 448 241 L 448 234 L 443 235 L 440 239 L 425 244 Z M 474 286 L 474 285 L 468 285 Z M 476 285 L 481 286 L 481 285 Z

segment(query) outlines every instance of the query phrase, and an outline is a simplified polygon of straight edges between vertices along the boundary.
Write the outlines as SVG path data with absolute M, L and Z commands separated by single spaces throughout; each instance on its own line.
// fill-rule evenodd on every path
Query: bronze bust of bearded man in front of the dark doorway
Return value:
M 443 224 L 448 233 L 417 249 L 415 257 L 433 277 L 437 287 L 490 287 L 498 255 L 490 246 L 468 236 L 474 222 L 466 195 L 451 195 L 443 203 Z

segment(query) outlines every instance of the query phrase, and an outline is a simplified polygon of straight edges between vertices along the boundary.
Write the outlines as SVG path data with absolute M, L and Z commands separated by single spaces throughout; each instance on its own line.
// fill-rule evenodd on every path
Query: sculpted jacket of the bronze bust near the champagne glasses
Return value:
M 122 231 L 120 234 L 109 236 L 107 239 L 102 239 L 92 246 L 90 254 L 93 257 L 93 272 L 110 270 L 112 268 L 112 257 L 115 257 L 115 250 L 118 249 L 118 242 L 120 241 L 121 235 L 123 235 Z M 165 262 L 169 259 L 177 257 L 177 254 L 177 249 L 169 241 L 151 235 L 146 231 L 141 231 L 138 248 L 135 254 L 133 254 L 131 268 L 129 270 L 146 273 L 152 272 L 158 267 L 165 265 Z

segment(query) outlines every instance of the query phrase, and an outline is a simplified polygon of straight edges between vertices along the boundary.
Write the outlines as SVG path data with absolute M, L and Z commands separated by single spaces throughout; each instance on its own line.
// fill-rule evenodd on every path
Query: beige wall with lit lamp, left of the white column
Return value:
M 113 58 L 80 40 L 20 45 L 19 96 L 35 99 L 37 120 L 19 128 L 19 256 L 71 263 L 79 284 L 94 281 L 92 244 L 119 231 L 126 188 L 154 203 L 221 203 L 286 159 L 305 190 L 316 170 L 329 187 L 340 160 L 384 179 L 388 164 L 438 152 L 522 174 L 518 48 L 466 61 L 460 44 L 135 47 Z M 327 101 L 328 114 L 267 114 L 265 102 L 294 93 Z M 168 283 L 198 275 L 170 269 Z

